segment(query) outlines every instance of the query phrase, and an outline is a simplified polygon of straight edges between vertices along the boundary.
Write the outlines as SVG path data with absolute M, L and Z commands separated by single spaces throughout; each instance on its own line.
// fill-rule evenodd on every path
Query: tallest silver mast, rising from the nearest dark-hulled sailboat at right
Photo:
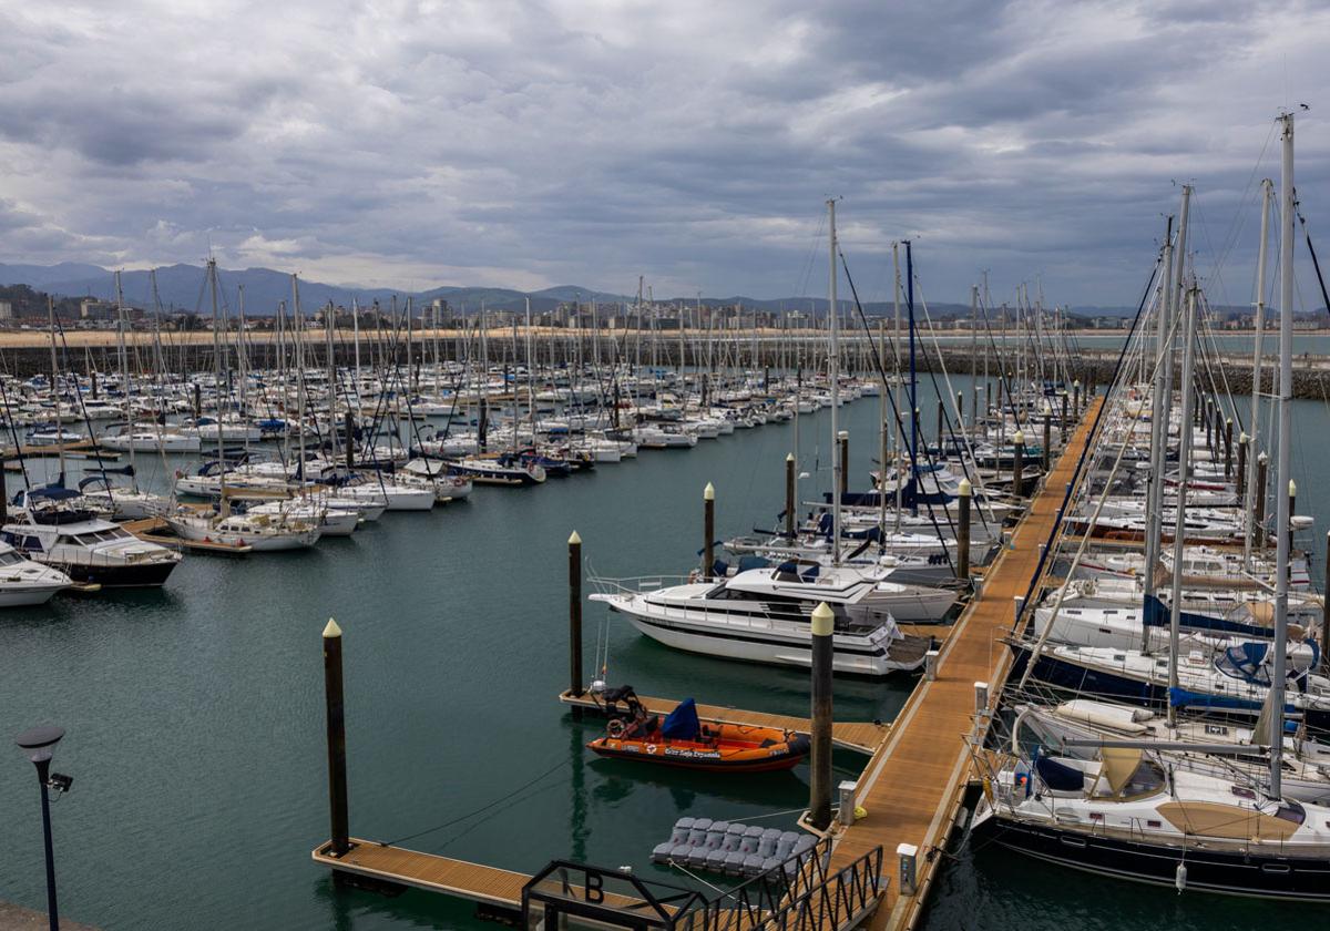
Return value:
M 1289 512 L 1290 454 L 1293 451 L 1293 114 L 1285 113 L 1283 165 L 1279 170 L 1279 446 L 1274 484 L 1274 664 L 1270 670 L 1270 795 L 1279 798 L 1283 765 L 1283 692 L 1289 653 Z

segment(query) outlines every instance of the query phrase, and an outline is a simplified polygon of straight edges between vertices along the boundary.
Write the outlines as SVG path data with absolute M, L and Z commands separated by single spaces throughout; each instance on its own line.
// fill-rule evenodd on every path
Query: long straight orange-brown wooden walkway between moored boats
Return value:
M 1101 403 L 1100 398 L 1088 407 L 1048 481 L 1012 533 L 1011 547 L 984 573 L 979 597 L 958 618 L 942 648 L 936 680 L 919 681 L 859 779 L 858 802 L 867 817 L 842 831 L 833 850 L 831 870 L 847 866 L 878 845 L 892 861 L 902 843 L 919 851 L 916 892 L 903 896 L 898 884 L 891 883 L 872 915 L 872 931 L 911 928 L 919 918 L 944 859 L 938 853 L 956 822 L 970 779 L 971 758 L 964 738 L 975 724 L 975 682 L 988 682 L 994 702 L 1007 678 L 1011 650 L 1000 638 L 1015 620 L 1015 598 L 1024 597 L 1029 588 L 1039 565 L 1039 548 L 1053 528 Z

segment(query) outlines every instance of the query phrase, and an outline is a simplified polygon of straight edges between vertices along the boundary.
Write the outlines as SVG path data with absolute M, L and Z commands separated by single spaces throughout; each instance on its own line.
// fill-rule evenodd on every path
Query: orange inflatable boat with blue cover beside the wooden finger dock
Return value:
M 809 755 L 806 734 L 702 724 L 692 698 L 681 702 L 664 721 L 657 714 L 648 714 L 630 690 L 620 700 L 628 704 L 629 713 L 610 718 L 605 735 L 587 745 L 602 757 L 716 773 L 766 773 L 791 769 Z

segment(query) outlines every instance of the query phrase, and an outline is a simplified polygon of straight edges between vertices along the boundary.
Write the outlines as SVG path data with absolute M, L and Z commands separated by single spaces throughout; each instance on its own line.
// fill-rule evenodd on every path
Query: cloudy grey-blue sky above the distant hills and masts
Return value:
M 864 297 L 912 237 L 939 301 L 1134 305 L 1186 180 L 1241 303 L 1302 102 L 1330 251 L 1326 3 L 0 0 L 0 262 L 821 295 L 837 196 Z

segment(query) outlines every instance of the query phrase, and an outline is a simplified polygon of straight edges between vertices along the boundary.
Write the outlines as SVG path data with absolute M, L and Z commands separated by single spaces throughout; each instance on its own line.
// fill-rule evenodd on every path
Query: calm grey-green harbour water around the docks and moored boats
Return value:
M 963 380 L 955 387 L 968 394 Z M 866 484 L 876 412 L 875 399 L 842 411 L 851 487 Z M 1319 517 L 1330 512 L 1314 477 L 1330 454 L 1330 416 L 1299 402 L 1295 420 L 1298 511 Z M 805 497 L 830 485 L 827 424 L 827 411 L 801 419 L 801 467 L 813 473 Z M 161 592 L 0 616 L 0 737 L 37 722 L 68 729 L 55 769 L 74 787 L 52 813 L 61 912 L 104 928 L 495 927 L 439 895 L 336 890 L 310 862 L 327 837 L 319 634 L 330 616 L 346 634 L 359 837 L 428 831 L 403 846 L 521 871 L 553 858 L 632 864 L 680 882 L 648 862 L 680 815 L 742 819 L 803 805 L 806 767 L 726 778 L 597 759 L 583 749 L 596 724 L 575 722 L 555 698 L 567 685 L 568 535 L 581 533 L 588 571 L 604 576 L 685 573 L 701 545 L 702 487 L 716 484 L 722 535 L 770 527 L 790 447 L 791 427 L 773 424 L 692 451 L 644 451 L 543 488 L 477 488 L 467 503 L 388 513 L 306 553 L 190 556 Z M 588 669 L 608 625 L 612 682 L 807 714 L 805 674 L 665 649 L 598 605 L 587 606 L 585 625 Z M 888 720 L 911 685 L 838 680 L 837 714 Z M 0 759 L 0 898 L 40 908 L 33 773 L 17 751 Z M 838 754 L 837 778 L 861 765 Z M 505 801 L 464 817 L 496 799 Z M 959 847 L 926 927 L 1200 931 L 1317 916 L 1107 882 L 976 845 Z

